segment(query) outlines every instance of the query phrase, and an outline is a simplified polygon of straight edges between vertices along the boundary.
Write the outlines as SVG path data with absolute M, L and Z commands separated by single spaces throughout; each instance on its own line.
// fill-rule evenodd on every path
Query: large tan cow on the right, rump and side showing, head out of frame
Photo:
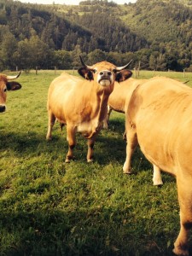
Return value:
M 173 253 L 189 255 L 192 228 L 192 89 L 168 78 L 149 79 L 133 91 L 125 116 L 127 136 L 124 172 L 139 144 L 143 154 L 160 171 L 177 180 L 180 232 Z

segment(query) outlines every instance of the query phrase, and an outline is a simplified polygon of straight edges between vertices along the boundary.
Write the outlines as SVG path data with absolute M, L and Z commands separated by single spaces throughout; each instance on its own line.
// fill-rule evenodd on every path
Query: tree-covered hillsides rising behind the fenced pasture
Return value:
M 192 71 L 192 1 L 79 5 L 0 0 L 0 69 L 78 68 L 132 60 L 146 70 Z

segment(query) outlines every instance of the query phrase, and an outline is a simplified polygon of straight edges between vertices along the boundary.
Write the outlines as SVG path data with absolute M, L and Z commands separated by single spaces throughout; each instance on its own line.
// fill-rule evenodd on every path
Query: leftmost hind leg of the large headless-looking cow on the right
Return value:
M 126 127 L 126 160 L 123 166 L 125 174 L 131 174 L 131 156 L 138 144 L 136 128 L 133 126 L 128 128 Z

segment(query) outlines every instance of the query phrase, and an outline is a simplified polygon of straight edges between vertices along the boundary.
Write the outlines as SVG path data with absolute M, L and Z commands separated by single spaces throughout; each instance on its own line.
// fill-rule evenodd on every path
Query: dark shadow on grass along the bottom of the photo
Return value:
M 50 209 L 39 212 L 2 211 L 1 241 L 7 239 L 7 243 L 1 247 L 1 253 L 11 256 L 172 255 L 172 245 L 166 248 L 166 242 L 170 241 L 168 236 L 175 236 L 174 230 L 166 236 L 160 230 L 159 234 L 153 230 L 143 233 L 141 230 L 145 224 L 142 219 L 137 220 L 137 225 L 129 221 L 124 223 L 127 211 L 105 207 L 70 212 Z M 172 237 L 172 244 L 173 241 Z

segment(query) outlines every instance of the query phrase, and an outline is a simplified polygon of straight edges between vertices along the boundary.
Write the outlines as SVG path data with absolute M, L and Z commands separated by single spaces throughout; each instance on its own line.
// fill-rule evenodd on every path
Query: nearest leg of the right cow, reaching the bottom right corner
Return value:
M 184 177 L 184 179 L 184 181 L 179 181 L 177 179 L 181 228 L 177 236 L 177 240 L 174 243 L 173 253 L 176 255 L 188 256 L 189 230 L 192 228 L 192 180 L 188 177 Z

